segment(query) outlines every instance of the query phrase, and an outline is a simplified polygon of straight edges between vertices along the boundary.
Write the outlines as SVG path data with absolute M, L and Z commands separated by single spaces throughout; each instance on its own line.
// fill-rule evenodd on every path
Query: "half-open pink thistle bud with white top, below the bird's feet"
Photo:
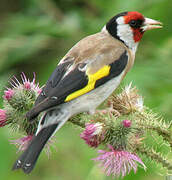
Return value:
M 97 147 L 103 140 L 102 135 L 102 124 L 86 124 L 85 130 L 80 134 L 80 137 L 88 144 L 90 147 Z

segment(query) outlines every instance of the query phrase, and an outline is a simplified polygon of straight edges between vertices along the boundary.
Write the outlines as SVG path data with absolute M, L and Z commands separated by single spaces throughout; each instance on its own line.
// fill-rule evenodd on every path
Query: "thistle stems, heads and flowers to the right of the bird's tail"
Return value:
M 131 83 L 119 94 L 109 97 L 105 109 L 95 115 L 80 115 L 71 121 L 81 127 L 85 122 L 81 138 L 89 146 L 90 140 L 92 142 L 95 138 L 90 134 L 96 134 L 96 140 L 99 140 L 96 147 L 99 149 L 102 144 L 104 150 L 99 149 L 98 157 L 93 160 L 98 162 L 107 176 L 124 177 L 131 170 L 136 173 L 138 167 L 146 170 L 142 158 L 145 162 L 156 164 L 159 174 L 172 173 L 172 126 L 144 106 L 142 96 Z M 96 133 L 96 128 L 89 128 L 90 123 L 91 127 L 101 124 L 101 133 Z M 159 147 L 167 151 L 162 153 Z

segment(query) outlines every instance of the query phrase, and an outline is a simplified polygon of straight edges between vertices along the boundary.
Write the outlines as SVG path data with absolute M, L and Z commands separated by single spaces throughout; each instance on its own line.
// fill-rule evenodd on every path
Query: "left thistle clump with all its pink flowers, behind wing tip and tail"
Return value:
M 39 84 L 35 82 L 35 74 L 32 81 L 27 79 L 24 73 L 21 74 L 21 79 L 21 83 L 16 77 L 11 79 L 12 87 L 4 91 L 4 109 L 0 109 L 0 127 L 8 124 L 13 129 L 15 128 L 15 130 L 26 134 L 26 136 L 17 140 L 10 140 L 11 144 L 18 147 L 18 152 L 26 150 L 37 130 L 39 117 L 33 123 L 30 123 L 25 114 L 34 105 L 37 96 L 41 93 Z M 51 137 L 45 145 L 48 156 L 50 155 L 50 145 L 54 141 L 54 138 Z

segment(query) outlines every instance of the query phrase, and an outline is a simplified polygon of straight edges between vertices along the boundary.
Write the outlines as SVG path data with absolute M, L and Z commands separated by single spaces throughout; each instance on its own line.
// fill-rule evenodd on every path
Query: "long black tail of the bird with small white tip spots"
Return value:
M 28 148 L 13 165 L 12 170 L 22 168 L 24 173 L 29 174 L 34 168 L 43 147 L 57 127 L 58 124 L 50 125 L 42 129 L 37 136 L 34 136 Z

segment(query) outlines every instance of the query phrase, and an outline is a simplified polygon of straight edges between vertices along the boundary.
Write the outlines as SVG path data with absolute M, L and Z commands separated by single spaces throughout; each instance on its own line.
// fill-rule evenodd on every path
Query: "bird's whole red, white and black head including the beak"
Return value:
M 131 11 L 114 16 L 105 27 L 110 35 L 125 43 L 135 52 L 144 32 L 161 28 L 160 25 L 159 21 L 146 18 L 137 11 Z

